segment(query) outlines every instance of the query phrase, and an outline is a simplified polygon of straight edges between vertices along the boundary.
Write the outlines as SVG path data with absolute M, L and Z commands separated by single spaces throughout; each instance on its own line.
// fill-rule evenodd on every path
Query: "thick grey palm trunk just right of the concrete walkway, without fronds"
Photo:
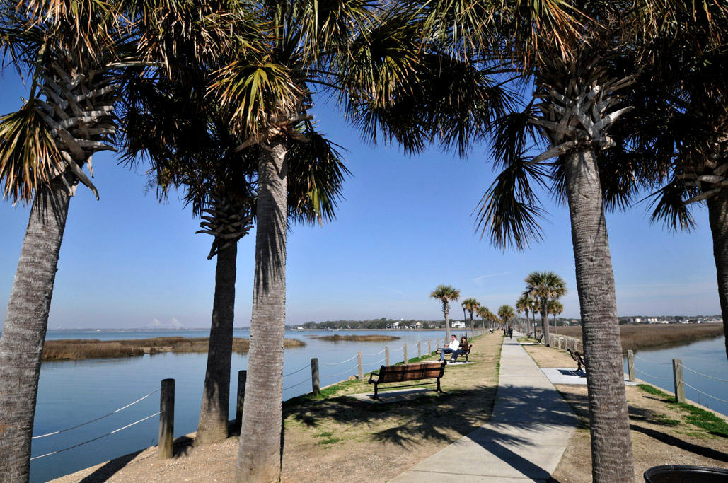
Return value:
M 592 478 L 596 483 L 633 482 L 620 326 L 596 154 L 572 153 L 562 161 L 588 367 Z

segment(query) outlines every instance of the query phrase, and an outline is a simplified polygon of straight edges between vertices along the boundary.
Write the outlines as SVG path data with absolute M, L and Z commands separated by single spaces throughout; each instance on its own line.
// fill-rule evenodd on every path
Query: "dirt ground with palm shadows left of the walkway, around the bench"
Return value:
M 395 404 L 347 397 L 373 392 L 365 378 L 344 383 L 328 399 L 286 404 L 282 481 L 384 482 L 482 426 L 493 409 L 501 341 L 497 332 L 484 335 L 473 343 L 473 364 L 448 365 L 441 381 L 446 394 Z M 170 460 L 157 460 L 153 447 L 54 481 L 232 481 L 238 437 L 198 448 L 191 437 L 175 442 Z

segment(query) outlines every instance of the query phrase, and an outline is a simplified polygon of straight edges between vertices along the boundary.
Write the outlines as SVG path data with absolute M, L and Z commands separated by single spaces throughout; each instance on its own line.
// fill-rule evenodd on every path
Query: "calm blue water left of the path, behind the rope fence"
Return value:
M 403 360 L 403 345 L 408 357 L 417 355 L 418 341 L 423 353 L 427 340 L 444 338 L 444 332 L 386 331 L 400 337 L 387 343 L 331 342 L 315 340 L 314 335 L 331 331 L 287 331 L 286 338 L 301 339 L 306 346 L 285 350 L 283 399 L 311 391 L 311 371 L 306 366 L 312 357 L 320 362 L 321 385 L 328 386 L 357 373 L 357 351 L 362 351 L 365 372 L 384 364 L 384 346 L 389 346 L 390 362 Z M 343 332 L 339 332 L 343 333 Z M 368 335 L 371 331 L 346 331 Z M 206 337 L 205 331 L 62 331 L 48 332 L 47 339 L 135 339 L 180 335 Z M 236 330 L 235 337 L 248 338 L 247 330 Z M 353 359 L 352 359 L 353 358 Z M 341 363 L 347 359 L 348 362 Z M 202 383 L 207 354 L 155 354 L 120 359 L 92 359 L 76 362 L 46 362 L 41 367 L 38 403 L 33 435 L 59 431 L 98 418 L 123 407 L 159 388 L 165 378 L 175 379 L 175 437 L 197 429 Z M 233 354 L 230 410 L 234 418 L 237 372 L 248 367 L 248 356 Z M 300 371 L 298 371 L 300 370 Z M 298 372 L 296 372 L 298 371 Z M 294 373 L 295 372 L 295 373 Z M 108 418 L 53 436 L 33 440 L 32 457 L 63 450 L 103 436 L 159 411 L 159 393 L 117 412 Z M 43 482 L 82 468 L 157 444 L 159 417 L 138 423 L 95 442 L 31 461 L 31 481 Z

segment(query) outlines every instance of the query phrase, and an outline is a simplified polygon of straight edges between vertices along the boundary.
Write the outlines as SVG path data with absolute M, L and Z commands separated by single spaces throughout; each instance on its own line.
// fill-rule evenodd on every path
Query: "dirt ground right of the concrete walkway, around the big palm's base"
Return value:
M 572 367 L 566 351 L 544 346 L 524 346 L 539 367 Z M 553 479 L 562 483 L 591 481 L 587 386 L 559 384 L 558 391 L 579 415 L 581 427 L 569 441 Z M 632 428 L 635 480 L 644 481 L 647 468 L 684 464 L 728 468 L 728 438 L 711 434 L 687 422 L 686 412 L 665 397 L 649 394 L 638 386 L 627 386 Z M 721 416 L 721 418 L 723 418 Z

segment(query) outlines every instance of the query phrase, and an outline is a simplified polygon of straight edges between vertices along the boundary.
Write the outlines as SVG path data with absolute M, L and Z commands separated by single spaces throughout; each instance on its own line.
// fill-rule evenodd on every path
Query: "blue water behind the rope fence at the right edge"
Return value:
M 638 351 L 635 353 L 636 376 L 673 393 L 673 359 L 681 359 L 683 364 L 685 397 L 728 415 L 728 359 L 725 338 L 701 340 L 688 346 L 657 351 Z

